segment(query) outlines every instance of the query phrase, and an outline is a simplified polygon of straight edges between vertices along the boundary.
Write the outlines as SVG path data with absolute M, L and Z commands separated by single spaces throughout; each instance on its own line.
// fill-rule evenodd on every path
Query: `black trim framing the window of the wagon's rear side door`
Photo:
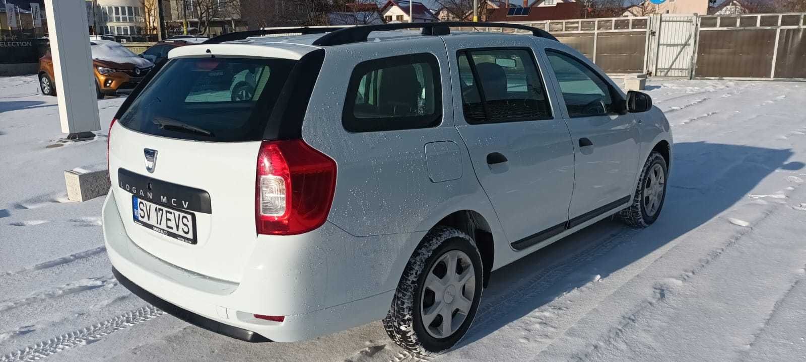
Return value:
M 548 105 L 549 114 L 546 117 L 541 118 L 534 118 L 534 119 L 513 119 L 513 120 L 505 120 L 505 121 L 490 121 L 489 112 L 487 110 L 487 97 L 484 96 L 484 87 L 480 87 L 479 84 L 479 73 L 476 70 L 476 62 L 473 60 L 473 57 L 470 56 L 472 51 L 502 51 L 502 50 L 521 50 L 526 51 L 529 53 L 529 56 L 532 58 L 532 63 L 534 64 L 534 68 L 538 71 L 538 80 L 543 87 L 543 95 L 546 97 L 546 104 Z M 514 47 L 467 47 L 463 49 L 459 49 L 456 51 L 456 72 L 459 74 L 459 57 L 467 54 L 467 64 L 470 64 L 470 70 L 473 73 L 473 85 L 476 87 L 476 90 L 479 92 L 479 97 L 481 98 L 481 105 L 484 109 L 484 121 L 470 121 L 467 117 L 464 117 L 464 109 L 462 109 L 462 117 L 464 117 L 464 121 L 467 122 L 469 125 L 490 125 L 496 123 L 509 123 L 509 122 L 529 122 L 529 121 L 548 121 L 555 119 L 555 111 L 554 107 L 551 104 L 551 99 L 548 93 L 548 88 L 546 88 L 546 77 L 543 76 L 542 68 L 540 68 L 540 64 L 538 63 L 538 57 L 534 54 L 534 49 L 532 47 L 527 46 L 514 46 Z M 461 76 L 460 76 L 461 78 Z M 459 79 L 461 82 L 461 79 Z M 461 90 L 459 91 L 461 92 Z M 462 101 L 464 104 L 464 101 Z

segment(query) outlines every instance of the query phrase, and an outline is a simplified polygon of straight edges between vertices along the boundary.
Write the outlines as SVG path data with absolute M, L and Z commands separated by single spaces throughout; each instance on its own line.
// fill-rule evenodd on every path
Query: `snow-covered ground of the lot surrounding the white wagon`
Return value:
M 806 84 L 653 80 L 675 134 L 650 228 L 604 220 L 492 274 L 476 323 L 437 361 L 806 359 Z M 114 280 L 102 198 L 63 171 L 106 163 L 64 144 L 35 77 L 0 78 L 0 361 L 413 360 L 370 323 L 249 344 L 164 315 Z M 57 145 L 57 147 L 50 147 Z

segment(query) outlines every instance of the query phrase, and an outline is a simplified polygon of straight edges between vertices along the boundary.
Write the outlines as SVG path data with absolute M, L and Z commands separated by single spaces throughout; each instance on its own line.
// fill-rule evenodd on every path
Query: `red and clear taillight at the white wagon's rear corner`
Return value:
M 257 158 L 257 233 L 294 235 L 325 223 L 336 162 L 301 139 L 264 141 Z

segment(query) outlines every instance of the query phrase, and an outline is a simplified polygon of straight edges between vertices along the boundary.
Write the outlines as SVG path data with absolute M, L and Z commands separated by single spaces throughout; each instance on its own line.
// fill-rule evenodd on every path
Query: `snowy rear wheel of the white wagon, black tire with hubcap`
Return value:
M 389 338 L 418 356 L 453 347 L 476 316 L 482 270 L 472 237 L 446 226 L 431 229 L 409 259 L 384 318 Z

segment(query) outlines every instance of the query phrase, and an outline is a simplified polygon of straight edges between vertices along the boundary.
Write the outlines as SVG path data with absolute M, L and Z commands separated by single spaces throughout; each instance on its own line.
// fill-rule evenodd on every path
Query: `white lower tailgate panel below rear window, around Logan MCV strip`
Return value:
M 131 240 L 173 265 L 237 282 L 256 242 L 255 165 L 260 141 L 193 142 L 140 134 L 118 124 L 110 133 L 110 176 L 117 185 L 113 187 L 114 198 Z M 153 173 L 146 171 L 145 148 L 157 151 Z M 194 206 L 200 203 L 182 187 L 206 192 L 209 210 L 203 204 L 201 208 Z M 177 210 L 180 215 L 191 215 L 194 220 L 186 224 L 193 235 L 189 239 L 195 239 L 196 244 L 136 224 L 135 211 L 139 210 L 132 202 L 135 197 Z M 165 222 L 174 219 L 160 217 Z M 176 233 L 185 235 L 183 222 L 180 220 Z M 171 224 L 162 226 L 160 229 L 173 232 Z

